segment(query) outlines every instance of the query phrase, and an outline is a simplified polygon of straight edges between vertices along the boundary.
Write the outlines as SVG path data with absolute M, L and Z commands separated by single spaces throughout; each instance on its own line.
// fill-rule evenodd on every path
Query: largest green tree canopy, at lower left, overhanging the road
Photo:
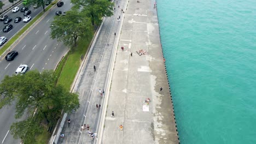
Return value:
M 0 84 L 0 109 L 13 104 L 13 101 L 16 101 L 15 117 L 20 118 L 26 113 L 28 118 L 14 123 L 11 133 L 27 143 L 40 133 L 42 123 L 53 125 L 62 110 L 70 112 L 79 107 L 77 94 L 55 85 L 52 70 L 42 73 L 32 70 L 24 75 L 5 76 Z

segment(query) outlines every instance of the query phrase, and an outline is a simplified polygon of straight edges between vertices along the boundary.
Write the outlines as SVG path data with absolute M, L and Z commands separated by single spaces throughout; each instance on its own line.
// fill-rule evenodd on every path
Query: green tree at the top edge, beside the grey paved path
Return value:
M 114 3 L 107 0 L 71 0 L 76 8 L 83 7 L 84 15 L 91 18 L 92 25 L 101 23 L 102 17 L 113 15 Z

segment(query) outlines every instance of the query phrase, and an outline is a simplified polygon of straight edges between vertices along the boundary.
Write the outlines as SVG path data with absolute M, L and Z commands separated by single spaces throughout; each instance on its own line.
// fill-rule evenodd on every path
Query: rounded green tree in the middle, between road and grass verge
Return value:
M 57 38 L 71 48 L 77 46 L 79 38 L 88 38 L 92 34 L 90 19 L 77 9 L 67 11 L 65 16 L 55 16 L 50 28 L 51 38 Z

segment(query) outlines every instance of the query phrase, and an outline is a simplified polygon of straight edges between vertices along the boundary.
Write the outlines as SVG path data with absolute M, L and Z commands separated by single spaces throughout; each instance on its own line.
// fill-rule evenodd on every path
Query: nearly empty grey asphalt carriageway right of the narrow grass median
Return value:
M 13 50 L 19 52 L 14 61 L 8 62 L 3 59 L 0 61 L 0 80 L 5 75 L 13 75 L 20 64 L 27 64 L 30 70 L 54 69 L 62 56 L 67 52 L 67 47 L 57 40 L 50 38 L 50 22 L 53 21 L 57 10 L 69 10 L 72 5 L 69 0 L 63 1 L 65 4 L 59 8 L 55 7 L 46 15 L 26 36 L 14 46 Z M 20 13 L 20 12 L 18 12 Z M 33 14 L 33 11 L 32 11 Z M 14 105 L 3 107 L 0 110 L 0 142 L 20 143 L 20 140 L 13 139 L 10 135 L 10 125 L 18 121 L 14 118 Z

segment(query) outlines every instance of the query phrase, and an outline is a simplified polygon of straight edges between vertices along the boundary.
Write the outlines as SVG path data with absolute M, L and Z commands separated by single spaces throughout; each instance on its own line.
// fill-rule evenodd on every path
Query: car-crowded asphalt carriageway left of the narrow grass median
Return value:
M 21 9 L 23 7 L 22 4 L 18 5 L 18 7 Z M 42 11 L 43 9 L 41 7 L 37 8 L 37 9 L 34 9 L 33 6 L 31 6 L 29 8 L 31 10 L 31 14 L 30 16 L 32 17 L 32 19 L 38 15 L 40 13 L 40 11 Z M 10 11 L 8 11 L 8 13 L 6 13 L 5 15 L 8 15 L 8 17 L 11 17 L 11 19 L 13 19 L 11 22 L 9 22 L 8 24 L 11 24 L 13 25 L 13 29 L 11 29 L 8 33 L 5 33 L 3 32 L 3 28 L 4 26 L 8 25 L 8 24 L 4 24 L 3 21 L 0 21 L 0 37 L 6 37 L 7 39 L 10 39 L 11 37 L 13 37 L 13 35 L 18 32 L 22 27 L 24 27 L 27 22 L 23 22 L 23 21 L 20 21 L 19 23 L 14 23 L 14 19 L 16 17 L 21 17 L 22 20 L 24 19 L 24 15 L 23 15 L 23 12 L 20 12 L 18 11 L 17 13 L 13 13 Z

